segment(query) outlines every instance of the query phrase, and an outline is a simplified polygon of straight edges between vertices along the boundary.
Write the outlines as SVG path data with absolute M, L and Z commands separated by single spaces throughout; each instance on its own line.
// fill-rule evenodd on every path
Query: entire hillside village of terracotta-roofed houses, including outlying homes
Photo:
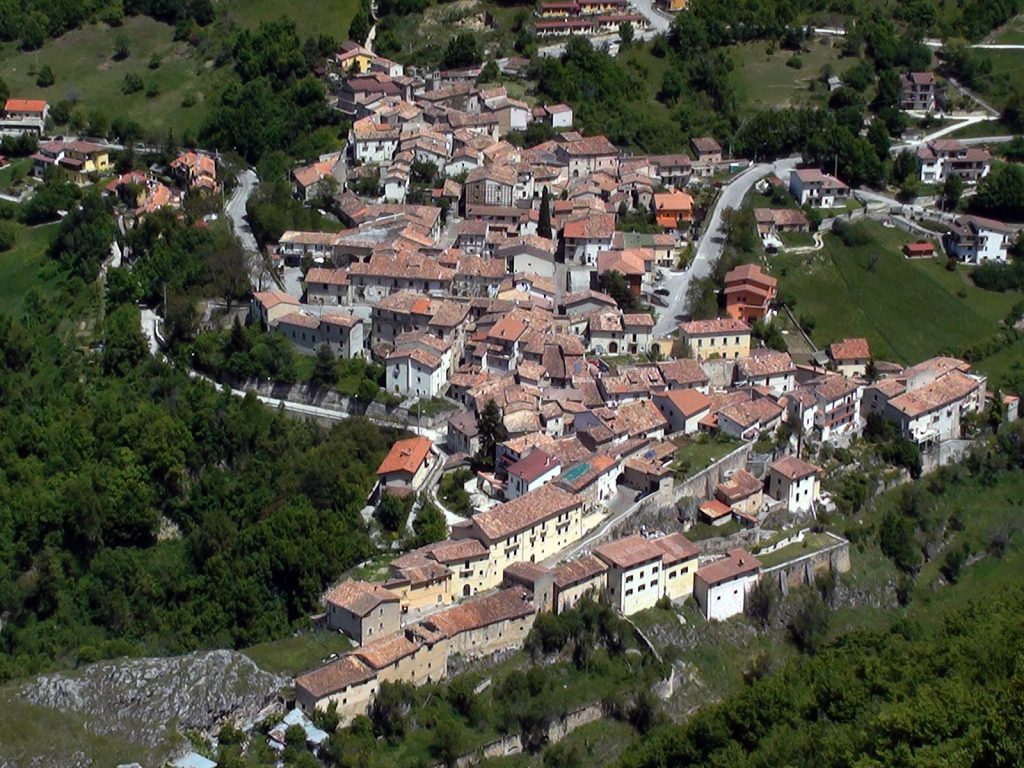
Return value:
M 551 2 L 536 32 L 624 23 L 643 29 L 646 18 L 625 1 Z M 498 65 L 515 76 L 521 62 Z M 769 343 L 766 327 L 787 311 L 773 255 L 790 234 L 820 238 L 866 210 L 828 169 L 761 172 L 729 157 L 725 137 L 629 154 L 574 130 L 570 106 L 530 106 L 479 75 L 417 71 L 345 43 L 326 79 L 331 106 L 350 121 L 347 143 L 291 172 L 295 198 L 327 206 L 338 231 L 288 230 L 258 254 L 265 270 L 246 322 L 303 355 L 382 367 L 367 413 L 404 416 L 408 436 L 377 469 L 368 514 L 390 498 L 411 526 L 435 505 L 447 528 L 389 551 L 383 578 L 341 579 L 325 593 L 313 624 L 354 647 L 295 677 L 306 716 L 334 708 L 347 724 L 382 683 L 442 680 L 453 657 L 518 647 L 539 614 L 585 596 L 624 616 L 667 600 L 727 621 L 759 581 L 784 591 L 843 572 L 856 553 L 817 521 L 836 509 L 822 485 L 842 474 L 836 451 L 888 440 L 909 457 L 892 462 L 901 477 L 915 477 L 963 455 L 984 415 L 1018 417 L 1018 397 L 964 359 L 902 365 L 860 337 L 810 353 Z M 938 109 L 931 73 L 906 73 L 903 88 L 905 110 Z M 38 135 L 34 177 L 101 179 L 121 231 L 222 193 L 214 152 L 117 174 L 114 147 L 48 136 L 47 110 L 11 98 L 0 132 Z M 550 138 L 521 145 L 531 126 Z M 974 185 L 992 160 L 943 137 L 914 154 L 925 184 L 956 175 Z M 754 171 L 748 190 L 757 182 L 790 200 L 753 211 L 764 253 L 724 273 L 719 316 L 692 317 L 677 278 L 710 268 L 723 189 Z M 904 217 L 895 201 L 886 208 L 895 213 L 880 216 Z M 1007 262 L 1019 232 L 975 215 L 940 220 L 931 237 L 908 223 L 916 242 L 905 258 Z M 130 265 L 132 254 L 117 259 Z M 161 341 L 159 324 L 143 332 Z M 468 512 L 449 508 L 445 483 Z

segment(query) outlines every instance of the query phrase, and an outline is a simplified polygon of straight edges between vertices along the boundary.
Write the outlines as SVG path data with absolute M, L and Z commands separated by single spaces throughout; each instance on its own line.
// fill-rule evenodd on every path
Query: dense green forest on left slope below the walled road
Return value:
M 287 634 L 373 549 L 358 513 L 391 436 L 150 357 L 131 292 L 77 276 L 88 216 L 57 238 L 60 292 L 0 316 L 0 679 Z

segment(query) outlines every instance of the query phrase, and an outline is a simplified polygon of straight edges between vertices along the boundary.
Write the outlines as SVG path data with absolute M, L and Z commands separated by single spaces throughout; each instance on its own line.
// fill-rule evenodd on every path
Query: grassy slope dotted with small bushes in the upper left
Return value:
M 114 60 L 116 41 L 128 41 L 129 56 Z M 60 99 L 77 100 L 84 116 L 98 111 L 108 120 L 125 117 L 142 126 L 144 135 L 163 138 L 168 128 L 180 137 L 197 131 L 211 99 L 230 74 L 218 70 L 186 42 L 175 42 L 174 29 L 147 16 L 126 18 L 120 28 L 94 24 L 48 41 L 40 50 L 17 51 L 10 44 L 0 51 L 0 77 L 11 95 L 45 98 L 50 103 Z M 159 69 L 148 68 L 153 54 L 159 54 Z M 56 76 L 49 88 L 36 85 L 33 74 L 48 65 Z M 143 83 L 157 83 L 160 93 L 146 97 L 144 90 L 130 95 L 121 92 L 125 75 L 138 75 Z M 182 106 L 190 95 L 196 105 Z

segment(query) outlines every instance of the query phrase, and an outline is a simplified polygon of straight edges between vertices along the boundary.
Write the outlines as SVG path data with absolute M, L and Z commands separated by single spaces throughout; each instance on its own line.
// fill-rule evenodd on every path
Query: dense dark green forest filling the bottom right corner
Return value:
M 927 625 L 854 632 L 653 732 L 620 765 L 1020 766 L 1022 632 L 1020 586 Z

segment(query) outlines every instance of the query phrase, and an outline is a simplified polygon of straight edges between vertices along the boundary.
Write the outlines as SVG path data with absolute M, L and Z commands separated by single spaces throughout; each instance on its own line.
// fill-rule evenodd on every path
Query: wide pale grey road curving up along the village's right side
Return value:
M 675 330 L 679 315 L 686 311 L 686 292 L 694 278 L 705 278 L 722 257 L 725 233 L 722 231 L 722 213 L 726 209 L 735 210 L 743 203 L 743 198 L 753 186 L 765 176 L 775 174 L 783 180 L 796 168 L 800 158 L 784 158 L 774 163 L 759 163 L 751 166 L 736 178 L 722 187 L 718 202 L 709 216 L 707 225 L 697 242 L 697 250 L 689 266 L 682 271 L 663 270 L 666 275 L 662 288 L 670 292 L 669 306 L 664 308 L 654 323 L 654 336 L 664 338 Z

